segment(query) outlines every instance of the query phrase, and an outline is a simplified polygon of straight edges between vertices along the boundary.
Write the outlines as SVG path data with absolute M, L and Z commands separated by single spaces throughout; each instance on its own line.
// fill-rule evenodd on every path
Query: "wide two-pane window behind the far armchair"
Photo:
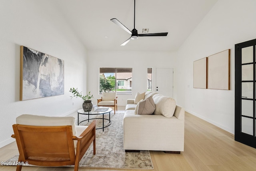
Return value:
M 132 68 L 100 68 L 100 94 L 132 94 Z

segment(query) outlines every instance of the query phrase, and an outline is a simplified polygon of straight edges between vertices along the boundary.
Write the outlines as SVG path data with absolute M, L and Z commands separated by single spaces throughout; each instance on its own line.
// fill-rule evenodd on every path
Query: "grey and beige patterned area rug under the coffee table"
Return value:
M 102 117 L 98 115 L 97 117 Z M 105 114 L 104 118 L 109 115 Z M 79 167 L 112 168 L 112 169 L 154 169 L 149 151 L 126 153 L 123 149 L 123 121 L 124 113 L 110 114 L 111 125 L 96 129 L 96 155 L 93 155 L 93 146 L 90 145 L 84 157 L 79 162 Z M 91 119 L 92 117 L 90 117 Z M 88 119 L 87 115 L 79 115 L 79 121 Z M 91 121 L 90 121 L 91 122 Z M 77 123 L 77 116 L 76 116 Z M 109 121 L 105 120 L 104 125 Z M 80 125 L 88 125 L 88 121 Z M 97 120 L 96 127 L 102 127 L 102 119 Z M 8 161 L 18 161 L 18 155 Z M 74 167 L 74 166 L 68 166 Z

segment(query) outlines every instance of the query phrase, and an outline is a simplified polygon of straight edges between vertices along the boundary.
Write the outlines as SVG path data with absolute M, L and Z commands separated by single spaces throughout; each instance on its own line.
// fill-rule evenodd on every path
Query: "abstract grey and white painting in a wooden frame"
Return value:
M 64 94 L 64 61 L 20 46 L 20 100 Z

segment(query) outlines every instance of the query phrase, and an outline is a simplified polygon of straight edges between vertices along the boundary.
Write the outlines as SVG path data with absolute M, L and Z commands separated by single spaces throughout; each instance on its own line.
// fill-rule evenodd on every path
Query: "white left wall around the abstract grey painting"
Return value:
M 14 141 L 10 136 L 17 116 L 67 115 L 82 105 L 82 100 L 70 100 L 68 91 L 86 90 L 87 52 L 55 8 L 50 1 L 1 0 L 0 147 Z M 21 45 L 64 60 L 64 95 L 19 101 Z

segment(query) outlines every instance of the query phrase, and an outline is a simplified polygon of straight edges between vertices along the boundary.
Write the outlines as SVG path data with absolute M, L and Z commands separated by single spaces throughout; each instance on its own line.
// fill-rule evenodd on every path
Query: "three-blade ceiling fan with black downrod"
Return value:
M 138 34 L 138 30 L 136 30 L 136 28 L 135 28 L 135 0 L 134 0 L 134 29 L 132 29 L 132 31 L 130 31 L 126 26 L 124 26 L 124 24 L 122 24 L 116 18 L 112 18 L 110 21 L 114 22 L 115 24 L 117 24 L 119 27 L 121 27 L 122 29 L 124 29 L 126 32 L 128 32 L 131 35 L 131 37 L 128 40 L 126 40 L 124 43 L 120 44 L 120 46 L 124 46 L 131 39 L 137 39 L 138 37 L 142 37 L 142 36 L 167 36 L 167 34 L 168 34 L 168 32 L 165 32 L 165 33 Z

